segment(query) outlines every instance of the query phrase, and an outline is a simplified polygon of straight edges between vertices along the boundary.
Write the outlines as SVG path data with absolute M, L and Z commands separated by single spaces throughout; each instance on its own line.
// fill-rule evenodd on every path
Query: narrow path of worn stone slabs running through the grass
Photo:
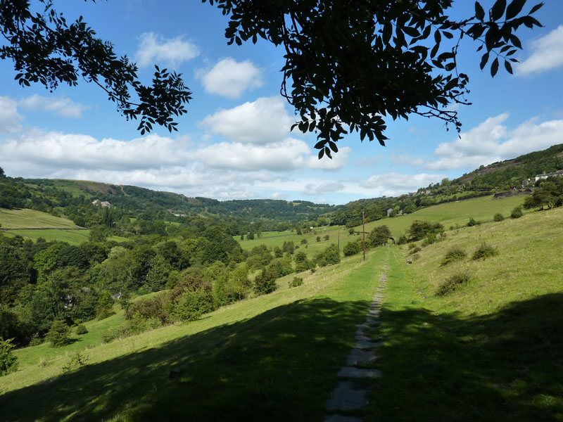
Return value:
M 381 320 L 381 305 L 384 302 L 384 292 L 387 283 L 387 262 L 384 264 L 384 272 L 379 278 L 379 287 L 375 293 L 372 303 L 369 305 L 366 319 L 363 324 L 356 325 L 355 347 L 350 350 L 346 358 L 346 366 L 343 366 L 338 377 L 339 383 L 331 392 L 327 400 L 327 414 L 324 422 L 362 422 L 358 416 L 348 416 L 346 411 L 362 409 L 369 405 L 369 387 L 358 382 L 362 378 L 375 378 L 381 376 L 379 369 L 366 368 L 376 357 L 375 349 L 383 343 L 381 338 L 366 335 L 367 330 L 379 327 Z

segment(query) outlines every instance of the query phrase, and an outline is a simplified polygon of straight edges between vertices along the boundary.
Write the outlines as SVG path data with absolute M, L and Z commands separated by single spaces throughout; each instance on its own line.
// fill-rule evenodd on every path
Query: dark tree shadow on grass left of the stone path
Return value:
M 0 396 L 6 421 L 319 421 L 367 302 L 301 300 Z M 189 362 L 174 380 L 171 369 Z

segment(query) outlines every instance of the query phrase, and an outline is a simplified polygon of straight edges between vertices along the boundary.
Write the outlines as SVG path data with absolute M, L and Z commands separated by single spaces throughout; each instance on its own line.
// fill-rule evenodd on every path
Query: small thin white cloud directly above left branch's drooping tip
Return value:
M 140 67 L 150 66 L 155 62 L 175 66 L 199 55 L 196 44 L 185 41 L 183 36 L 166 39 L 160 34 L 145 32 L 139 39 L 135 60 Z

